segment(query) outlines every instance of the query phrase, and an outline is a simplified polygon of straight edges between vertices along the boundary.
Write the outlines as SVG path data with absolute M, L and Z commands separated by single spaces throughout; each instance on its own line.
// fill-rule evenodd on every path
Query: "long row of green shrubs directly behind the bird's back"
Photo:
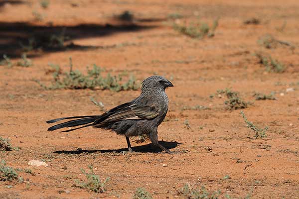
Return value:
M 119 75 L 111 76 L 108 73 L 107 77 L 102 77 L 101 72 L 103 69 L 97 65 L 93 65 L 91 70 L 88 70 L 88 75 L 83 75 L 80 71 L 73 71 L 72 59 L 70 58 L 70 71 L 63 74 L 61 77 L 60 67 L 58 65 L 53 65 L 53 79 L 54 82 L 50 86 L 41 84 L 36 81 L 41 87 L 47 90 L 55 89 L 100 89 L 100 90 L 111 90 L 115 92 L 128 91 L 128 90 L 138 90 L 139 85 L 136 82 L 134 76 L 130 76 L 129 80 L 123 84 L 122 76 Z

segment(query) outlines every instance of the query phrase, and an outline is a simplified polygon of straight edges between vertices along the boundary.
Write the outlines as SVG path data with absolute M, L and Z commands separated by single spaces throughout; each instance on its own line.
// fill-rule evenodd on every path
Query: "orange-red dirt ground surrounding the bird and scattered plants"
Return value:
M 115 19 L 125 10 L 134 14 L 133 21 Z M 28 68 L 0 66 L 0 136 L 20 148 L 1 152 L 0 159 L 35 174 L 18 172 L 21 184 L 0 182 L 0 198 L 130 199 L 144 187 L 154 199 L 173 199 L 189 183 L 219 190 L 219 198 L 299 199 L 298 10 L 298 0 L 50 0 L 45 9 L 39 0 L 0 0 L 1 56 L 19 61 L 19 39 L 32 32 L 66 27 L 72 43 L 62 50 L 31 50 Z M 173 13 L 183 17 L 169 17 Z M 214 37 L 193 39 L 172 28 L 185 20 L 212 24 L 217 17 Z M 243 23 L 252 17 L 261 23 Z M 265 34 L 295 48 L 264 48 L 258 40 Z M 284 63 L 286 71 L 267 72 L 254 56 L 259 51 Z M 97 64 L 114 75 L 133 74 L 140 83 L 153 74 L 170 79 L 174 87 L 166 90 L 169 111 L 158 137 L 174 153 L 155 152 L 149 142 L 133 143 L 136 152 L 121 153 L 127 150 L 125 138 L 99 129 L 48 132 L 46 120 L 101 114 L 91 97 L 109 109 L 140 94 L 44 90 L 32 81 L 50 84 L 48 63 L 67 71 L 69 57 L 84 72 Z M 269 127 L 266 138 L 249 138 L 255 133 L 240 109 L 227 110 L 226 97 L 216 94 L 225 88 L 252 102 L 243 111 L 257 126 Z M 255 100 L 255 92 L 275 92 L 277 100 Z M 209 108 L 186 108 L 198 105 Z M 27 165 L 33 159 L 49 166 Z M 75 179 L 84 180 L 80 169 L 88 165 L 102 179 L 110 178 L 105 193 L 73 186 Z

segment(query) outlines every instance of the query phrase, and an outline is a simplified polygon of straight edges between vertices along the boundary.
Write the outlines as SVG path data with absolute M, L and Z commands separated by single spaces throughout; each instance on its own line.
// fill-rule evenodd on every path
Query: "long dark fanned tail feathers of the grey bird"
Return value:
M 60 121 L 62 119 L 71 119 L 71 118 L 80 118 L 80 117 L 81 117 L 81 119 L 75 119 L 75 120 L 71 120 L 71 121 L 67 121 L 67 122 L 63 122 L 63 123 L 51 126 L 50 128 L 48 128 L 48 131 L 52 131 L 52 130 L 56 130 L 56 129 L 60 129 L 60 128 L 64 128 L 64 127 L 73 127 L 73 126 L 80 126 L 80 125 L 84 125 L 84 124 L 93 123 L 98 118 L 98 116 L 96 116 L 96 115 L 63 117 L 63 118 L 59 118 L 59 119 L 50 120 L 50 122 L 47 122 L 47 123 L 53 123 L 55 121 Z M 84 117 L 87 117 L 87 118 L 84 118 Z M 82 128 L 86 127 L 86 126 L 91 126 L 91 125 L 92 124 L 85 125 L 85 126 L 82 126 Z

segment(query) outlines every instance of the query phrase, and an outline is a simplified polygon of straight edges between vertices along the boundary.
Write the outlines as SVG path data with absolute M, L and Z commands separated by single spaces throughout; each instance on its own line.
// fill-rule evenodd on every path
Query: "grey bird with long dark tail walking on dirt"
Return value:
M 47 123 L 54 123 L 63 119 L 75 119 L 54 125 L 48 130 L 74 126 L 80 127 L 62 132 L 69 132 L 87 126 L 109 129 L 126 136 L 130 152 L 133 150 L 129 137 L 146 134 L 149 135 L 153 146 L 170 153 L 168 149 L 158 143 L 157 135 L 157 128 L 165 118 L 168 110 L 168 97 L 165 93 L 167 87 L 173 87 L 170 81 L 161 76 L 151 76 L 143 81 L 141 94 L 135 100 L 116 106 L 101 115 L 62 117 L 46 121 Z

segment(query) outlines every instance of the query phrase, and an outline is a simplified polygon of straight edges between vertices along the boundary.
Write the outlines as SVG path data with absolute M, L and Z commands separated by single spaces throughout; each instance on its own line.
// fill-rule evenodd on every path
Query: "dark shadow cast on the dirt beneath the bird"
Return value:
M 176 141 L 174 142 L 166 142 L 166 141 L 159 141 L 159 144 L 162 146 L 166 147 L 167 149 L 173 149 L 177 147 L 178 143 Z M 141 152 L 141 153 L 159 153 L 162 152 L 160 148 L 153 147 L 151 144 L 146 144 L 142 146 L 135 146 L 132 147 L 132 150 L 135 152 Z M 81 154 L 81 153 L 121 153 L 123 151 L 128 151 L 128 148 L 122 148 L 122 149 L 95 149 L 95 150 L 83 150 L 78 148 L 77 150 L 60 150 L 60 151 L 54 151 L 53 153 L 58 153 L 58 154 Z

